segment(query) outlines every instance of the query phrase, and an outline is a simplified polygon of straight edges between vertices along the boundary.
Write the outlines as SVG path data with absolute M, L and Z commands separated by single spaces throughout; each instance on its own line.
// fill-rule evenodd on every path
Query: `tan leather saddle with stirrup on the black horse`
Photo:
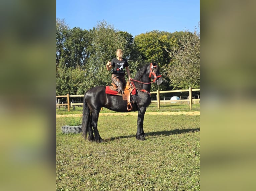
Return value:
M 109 89 L 116 92 L 118 87 L 114 83 L 112 83 L 111 85 L 112 86 L 109 86 Z M 122 94 L 118 94 L 117 92 L 116 92 L 115 95 L 123 96 L 123 100 L 125 100 L 125 101 L 127 100 L 127 110 L 131 111 L 132 108 L 133 108 L 132 107 L 132 103 L 134 103 L 134 101 L 133 100 L 131 101 L 131 97 L 130 96 L 131 96 L 131 93 L 134 92 L 135 89 L 134 89 L 134 87 L 131 86 L 130 82 L 128 81 L 126 83 L 126 85 L 124 85 L 123 90 L 124 90 L 124 94 L 123 95 Z M 107 93 L 107 87 L 106 87 L 106 93 Z M 134 94 L 132 94 L 132 95 L 134 95 Z

